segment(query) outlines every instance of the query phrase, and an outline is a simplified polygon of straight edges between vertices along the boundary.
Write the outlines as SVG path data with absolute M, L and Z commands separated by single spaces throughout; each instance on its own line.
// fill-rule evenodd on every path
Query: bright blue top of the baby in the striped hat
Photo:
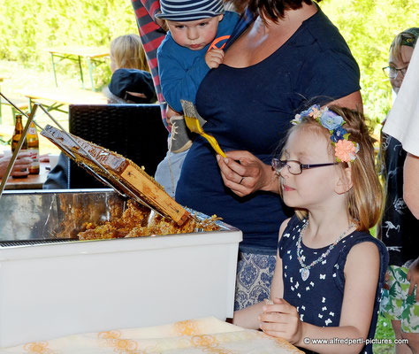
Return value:
M 209 72 L 209 66 L 205 56 L 199 56 L 194 59 L 193 65 L 186 68 L 181 58 L 176 58 L 173 53 L 178 54 L 173 50 L 164 50 L 164 47 L 157 52 L 160 84 L 167 104 L 176 112 L 182 112 L 180 99 L 195 102 L 196 92 Z

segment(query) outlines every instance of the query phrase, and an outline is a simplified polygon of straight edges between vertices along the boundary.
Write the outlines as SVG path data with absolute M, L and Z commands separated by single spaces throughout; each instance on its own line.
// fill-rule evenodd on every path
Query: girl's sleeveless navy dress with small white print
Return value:
M 339 327 L 340 310 L 345 288 L 344 268 L 347 254 L 355 244 L 373 242 L 380 253 L 380 275 L 377 284 L 373 318 L 369 327 L 369 338 L 374 338 L 381 289 L 385 280 L 388 253 L 385 245 L 366 232 L 354 231 L 344 237 L 329 255 L 309 269 L 306 281 L 301 277 L 301 265 L 297 259 L 297 242 L 303 221 L 293 216 L 278 242 L 279 257 L 282 259 L 284 299 L 297 308 L 300 319 L 319 327 Z M 310 249 L 301 242 L 302 259 L 305 265 L 319 258 L 329 246 Z M 372 345 L 363 348 L 362 353 L 372 353 Z

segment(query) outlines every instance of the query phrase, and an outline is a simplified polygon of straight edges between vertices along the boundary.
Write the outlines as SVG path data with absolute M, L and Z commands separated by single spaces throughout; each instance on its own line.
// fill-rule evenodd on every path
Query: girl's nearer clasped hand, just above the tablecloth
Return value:
M 264 305 L 263 313 L 259 316 L 263 333 L 283 338 L 293 344 L 300 342 L 302 322 L 297 309 L 278 297 L 273 303 Z

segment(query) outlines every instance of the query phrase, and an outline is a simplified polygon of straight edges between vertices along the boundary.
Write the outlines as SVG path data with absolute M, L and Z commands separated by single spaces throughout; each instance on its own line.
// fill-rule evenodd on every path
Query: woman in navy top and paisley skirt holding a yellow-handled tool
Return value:
M 205 131 L 227 158 L 196 137 L 176 200 L 242 230 L 239 310 L 269 296 L 278 229 L 292 212 L 272 193 L 278 180 L 270 166 L 290 120 L 307 101 L 361 110 L 362 98 L 358 65 L 316 3 L 250 0 L 237 27 L 243 31 L 232 35 L 223 64 L 205 76 L 196 94 Z

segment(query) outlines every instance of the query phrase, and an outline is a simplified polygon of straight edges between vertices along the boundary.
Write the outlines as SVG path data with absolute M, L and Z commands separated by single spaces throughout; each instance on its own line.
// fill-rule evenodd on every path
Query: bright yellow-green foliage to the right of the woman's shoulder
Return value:
M 417 0 L 324 0 L 322 10 L 339 28 L 360 65 L 364 111 L 380 122 L 392 104 L 391 86 L 382 67 L 395 35 L 417 27 Z

